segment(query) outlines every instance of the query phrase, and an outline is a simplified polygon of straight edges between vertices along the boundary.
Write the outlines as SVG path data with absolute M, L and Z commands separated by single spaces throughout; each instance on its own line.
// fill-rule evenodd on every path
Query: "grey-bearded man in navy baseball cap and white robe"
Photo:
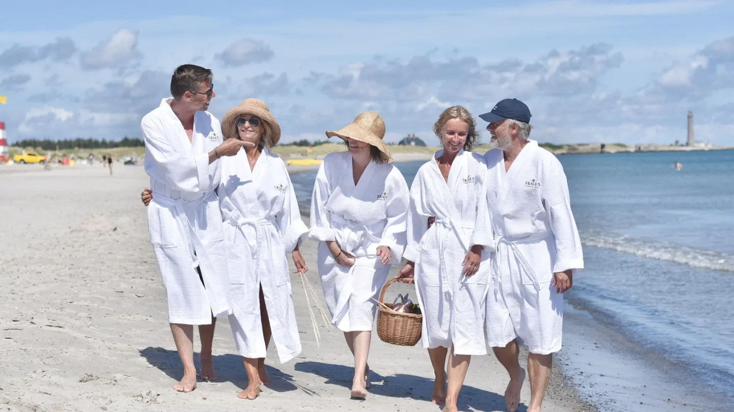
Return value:
M 518 345 L 528 347 L 528 412 L 539 412 L 553 353 L 561 349 L 562 293 L 573 285 L 573 272 L 584 268 L 584 255 L 563 167 L 528 139 L 528 106 L 505 99 L 479 117 L 490 123 L 495 147 L 484 155 L 487 202 L 480 202 L 476 220 L 477 228 L 492 231 L 495 243 L 487 341 L 509 373 L 505 402 L 510 412 L 517 411 L 526 375 Z

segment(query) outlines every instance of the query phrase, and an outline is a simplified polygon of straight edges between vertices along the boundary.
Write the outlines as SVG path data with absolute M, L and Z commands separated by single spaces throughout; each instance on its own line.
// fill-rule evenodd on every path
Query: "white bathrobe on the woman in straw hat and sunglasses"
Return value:
M 286 165 L 263 151 L 250 170 L 247 153 L 222 158 L 219 185 L 229 253 L 230 325 L 241 356 L 266 355 L 260 319 L 260 286 L 278 357 L 287 362 L 301 352 L 288 259 L 305 240 L 296 193 Z

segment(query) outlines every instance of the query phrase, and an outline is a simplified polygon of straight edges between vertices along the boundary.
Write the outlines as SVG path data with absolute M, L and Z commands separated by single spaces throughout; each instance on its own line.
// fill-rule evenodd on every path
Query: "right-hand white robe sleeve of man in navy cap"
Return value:
M 568 183 L 560 163 L 551 166 L 551 172 L 543 185 L 543 202 L 551 220 L 551 229 L 556 239 L 556 263 L 553 273 L 584 268 L 584 251 L 571 212 Z

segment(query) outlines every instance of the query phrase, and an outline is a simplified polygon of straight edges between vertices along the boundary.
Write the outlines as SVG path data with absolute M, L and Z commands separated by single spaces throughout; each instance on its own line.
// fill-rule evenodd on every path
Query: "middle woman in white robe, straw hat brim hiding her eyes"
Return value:
M 319 275 L 334 325 L 355 356 L 352 397 L 364 398 L 377 293 L 405 247 L 408 187 L 392 156 L 379 114 L 362 113 L 326 133 L 346 152 L 324 157 L 311 198 L 310 238 L 319 240 Z

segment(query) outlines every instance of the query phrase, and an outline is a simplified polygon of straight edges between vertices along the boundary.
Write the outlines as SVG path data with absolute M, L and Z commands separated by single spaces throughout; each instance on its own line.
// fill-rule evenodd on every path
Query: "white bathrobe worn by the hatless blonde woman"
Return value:
M 436 159 L 426 162 L 410 188 L 407 248 L 403 255 L 415 262 L 415 291 L 423 312 L 423 347 L 454 345 L 457 355 L 486 355 L 484 312 L 491 252 L 482 253 L 479 271 L 462 274 L 462 262 L 477 243 L 474 227 L 487 166 L 482 155 L 462 150 L 451 164 L 448 182 Z M 435 217 L 429 228 L 428 218 Z M 487 237 L 485 237 L 487 238 Z M 482 245 L 490 246 L 490 245 Z

